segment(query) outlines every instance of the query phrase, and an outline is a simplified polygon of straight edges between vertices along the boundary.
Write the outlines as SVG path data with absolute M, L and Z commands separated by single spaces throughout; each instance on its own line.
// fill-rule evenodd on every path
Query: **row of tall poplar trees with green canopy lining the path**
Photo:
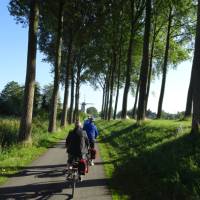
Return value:
M 48 127 L 54 132 L 60 83 L 65 88 L 63 127 L 78 118 L 80 85 L 86 81 L 103 91 L 103 119 L 116 118 L 119 90 L 123 89 L 121 118 L 127 116 L 131 91 L 135 95 L 132 116 L 142 122 L 151 81 L 161 75 L 160 118 L 167 72 L 191 56 L 195 35 L 186 116 L 193 107 L 192 132 L 199 132 L 199 6 L 200 0 L 10 0 L 10 14 L 29 26 L 19 140 L 31 139 L 37 47 L 54 74 Z

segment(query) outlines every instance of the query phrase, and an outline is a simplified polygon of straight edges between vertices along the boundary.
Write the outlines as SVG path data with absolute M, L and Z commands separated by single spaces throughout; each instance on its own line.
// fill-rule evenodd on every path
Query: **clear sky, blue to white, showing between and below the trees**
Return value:
M 28 28 L 16 24 L 14 17 L 9 15 L 8 0 L 0 0 L 0 92 L 10 81 L 24 85 L 26 74 L 26 59 L 28 45 Z M 43 87 L 52 83 L 53 74 L 50 73 L 49 63 L 42 62 L 44 56 L 37 51 L 36 81 Z M 167 74 L 163 110 L 177 113 L 185 110 L 187 90 L 191 73 L 191 60 L 178 65 L 176 70 L 170 69 Z M 157 78 L 151 84 L 148 109 L 157 111 L 161 79 Z M 60 87 L 61 98 L 64 88 Z M 123 90 L 120 90 L 118 111 L 122 107 Z M 90 85 L 82 85 L 80 102 L 92 103 L 99 111 L 102 103 L 102 91 L 94 91 Z M 132 109 L 134 97 L 129 94 L 128 109 Z

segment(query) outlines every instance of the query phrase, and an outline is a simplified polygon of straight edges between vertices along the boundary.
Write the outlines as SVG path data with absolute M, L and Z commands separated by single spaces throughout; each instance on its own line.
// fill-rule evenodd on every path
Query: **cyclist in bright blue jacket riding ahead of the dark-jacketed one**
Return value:
M 83 130 L 86 131 L 89 143 L 90 143 L 90 149 L 95 149 L 95 140 L 98 136 L 98 130 L 97 127 L 94 124 L 94 118 L 89 117 L 88 120 L 85 121 Z M 96 152 L 96 151 L 95 151 Z M 93 159 L 91 160 L 91 165 L 94 165 Z

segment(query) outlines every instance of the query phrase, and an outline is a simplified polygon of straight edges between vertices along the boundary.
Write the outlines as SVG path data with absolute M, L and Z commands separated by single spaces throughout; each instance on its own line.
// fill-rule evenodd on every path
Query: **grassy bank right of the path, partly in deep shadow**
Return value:
M 199 200 L 200 137 L 190 121 L 98 121 L 113 199 Z

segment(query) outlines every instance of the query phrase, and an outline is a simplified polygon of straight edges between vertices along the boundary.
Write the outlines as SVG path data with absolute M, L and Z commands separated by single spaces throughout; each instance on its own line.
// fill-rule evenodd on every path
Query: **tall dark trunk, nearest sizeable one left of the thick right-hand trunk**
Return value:
M 128 93 L 131 82 L 131 67 L 132 67 L 132 54 L 133 54 L 133 39 L 134 39 L 134 1 L 131 0 L 131 35 L 129 40 L 129 48 L 127 54 L 127 66 L 126 66 L 126 82 L 124 87 L 123 102 L 122 102 L 122 114 L 121 118 L 125 119 L 127 115 L 127 101 Z

